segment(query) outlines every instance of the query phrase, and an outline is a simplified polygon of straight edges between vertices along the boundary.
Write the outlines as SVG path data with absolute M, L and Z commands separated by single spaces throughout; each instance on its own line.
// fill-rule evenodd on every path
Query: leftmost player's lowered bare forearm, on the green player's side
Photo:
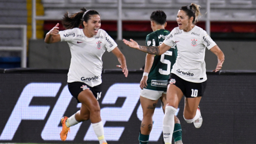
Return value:
M 121 65 L 117 65 L 117 67 L 122 68 L 122 71 L 123 71 L 125 77 L 127 77 L 128 76 L 128 69 L 127 69 L 127 66 L 126 66 L 126 60 L 125 60 L 125 57 L 124 57 L 123 53 L 118 49 L 118 47 L 115 47 L 115 49 L 113 49 L 111 52 L 116 55 L 119 63 L 121 64 Z

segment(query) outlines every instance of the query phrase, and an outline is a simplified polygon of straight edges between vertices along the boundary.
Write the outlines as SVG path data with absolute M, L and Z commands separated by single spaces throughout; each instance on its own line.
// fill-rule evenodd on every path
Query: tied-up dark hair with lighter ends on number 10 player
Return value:
M 200 5 L 191 3 L 191 5 L 186 5 L 186 6 L 180 7 L 180 10 L 185 11 L 187 13 L 189 19 L 191 17 L 193 17 L 192 23 L 195 25 L 196 22 L 198 22 L 199 15 L 202 15 L 199 10 L 200 8 L 201 8 Z

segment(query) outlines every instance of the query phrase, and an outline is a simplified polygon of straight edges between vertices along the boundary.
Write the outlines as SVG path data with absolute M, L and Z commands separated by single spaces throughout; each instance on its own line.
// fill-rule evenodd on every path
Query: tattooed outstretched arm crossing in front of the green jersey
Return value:
M 164 43 L 162 43 L 159 46 L 141 46 L 141 45 L 138 45 L 138 43 L 133 41 L 132 39 L 130 39 L 130 40 L 131 40 L 131 42 L 127 41 L 126 39 L 123 39 L 123 42 L 124 42 L 124 44 L 132 47 L 133 49 L 137 49 L 142 52 L 149 53 L 149 54 L 161 55 L 171 48 L 171 46 L 168 46 Z

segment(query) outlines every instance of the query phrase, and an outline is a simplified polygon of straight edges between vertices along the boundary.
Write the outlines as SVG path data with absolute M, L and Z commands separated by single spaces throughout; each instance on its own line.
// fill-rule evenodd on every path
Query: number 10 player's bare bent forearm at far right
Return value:
M 225 60 L 224 59 L 225 56 L 224 56 L 223 52 L 220 50 L 218 45 L 213 46 L 210 49 L 210 51 L 213 52 L 215 55 L 217 55 L 217 58 L 218 58 L 217 67 L 216 67 L 216 69 L 213 70 L 216 73 L 217 71 L 219 71 L 222 68 L 222 64 L 223 64 L 223 62 Z

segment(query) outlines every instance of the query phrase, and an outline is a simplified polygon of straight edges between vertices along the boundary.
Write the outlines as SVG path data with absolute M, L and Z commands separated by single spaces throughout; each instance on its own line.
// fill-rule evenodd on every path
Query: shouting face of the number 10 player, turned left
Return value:
M 187 28 L 189 25 L 189 18 L 185 11 L 179 10 L 176 20 L 181 30 Z

